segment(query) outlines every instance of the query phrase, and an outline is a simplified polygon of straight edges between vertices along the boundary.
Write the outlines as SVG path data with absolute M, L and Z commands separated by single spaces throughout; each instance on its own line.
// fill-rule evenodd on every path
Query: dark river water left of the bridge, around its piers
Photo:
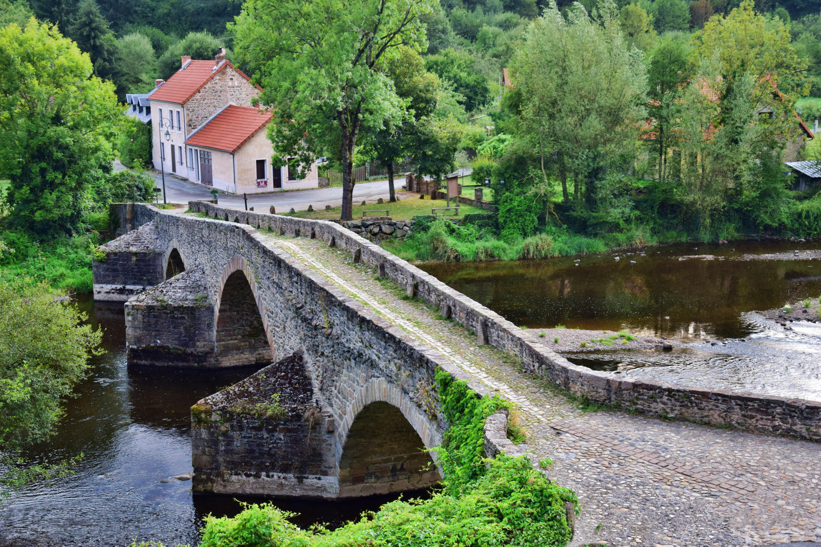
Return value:
M 52 463 L 78 454 L 83 459 L 74 475 L 6 500 L 0 508 L 0 546 L 130 545 L 135 538 L 167 547 L 197 545 L 205 515 L 233 516 L 241 508 L 231 496 L 192 495 L 190 481 L 172 478 L 193 470 L 190 406 L 257 369 L 129 367 L 122 304 L 95 307 L 89 296 L 76 304 L 104 329 L 107 353 L 94 360 L 94 373 L 68 401 L 57 435 L 30 456 Z M 395 498 L 276 504 L 300 513 L 293 521 L 302 526 L 338 526 Z

